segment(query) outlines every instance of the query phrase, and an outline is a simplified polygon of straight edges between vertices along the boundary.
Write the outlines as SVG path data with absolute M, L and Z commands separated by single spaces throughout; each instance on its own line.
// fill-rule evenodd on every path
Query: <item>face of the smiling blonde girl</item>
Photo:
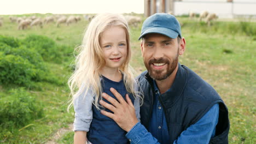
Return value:
M 117 69 L 126 61 L 127 41 L 125 30 L 120 26 L 107 28 L 101 35 L 100 45 L 106 65 L 103 69 Z

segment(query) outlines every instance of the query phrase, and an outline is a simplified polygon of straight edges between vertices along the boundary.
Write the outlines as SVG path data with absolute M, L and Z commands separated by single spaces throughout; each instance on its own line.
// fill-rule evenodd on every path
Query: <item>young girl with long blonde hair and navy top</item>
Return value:
M 75 110 L 74 143 L 129 143 L 126 131 L 102 115 L 100 110 L 104 107 L 99 104 L 103 92 L 115 98 L 111 87 L 124 99 L 128 93 L 139 120 L 141 97 L 135 91 L 129 65 L 131 47 L 124 16 L 98 14 L 90 22 L 80 48 L 75 71 L 68 81 Z

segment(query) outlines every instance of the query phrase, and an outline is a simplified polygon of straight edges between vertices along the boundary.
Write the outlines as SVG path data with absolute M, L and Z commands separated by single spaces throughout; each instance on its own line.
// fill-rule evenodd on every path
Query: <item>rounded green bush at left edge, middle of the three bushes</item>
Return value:
M 0 83 L 14 83 L 28 86 L 36 77 L 37 70 L 27 59 L 20 56 L 4 55 L 0 52 Z

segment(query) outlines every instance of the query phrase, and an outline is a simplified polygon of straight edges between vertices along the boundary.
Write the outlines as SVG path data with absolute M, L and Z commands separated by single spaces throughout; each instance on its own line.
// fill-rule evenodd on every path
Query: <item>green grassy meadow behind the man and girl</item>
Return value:
M 38 16 L 45 15 L 38 14 Z M 26 38 L 30 35 L 43 35 L 54 41 L 58 53 L 56 56 L 59 56 L 59 58 L 48 57 L 48 55 L 43 57 L 42 63 L 48 69 L 45 70 L 45 75 L 49 74 L 50 77 L 46 76 L 40 80 L 33 78 L 32 82 L 26 85 L 6 83 L 5 77 L 0 77 L 0 112 L 8 110 L 9 113 L 15 113 L 16 109 L 21 109 L 18 104 L 8 102 L 12 99 L 10 98 L 12 95 L 20 98 L 19 93 L 28 95 L 26 97 L 31 99 L 30 105 L 36 104 L 34 109 L 40 111 L 38 117 L 30 118 L 22 124 L 0 120 L 0 143 L 50 143 L 51 141 L 73 143 L 71 130 L 66 130 L 65 133 L 59 132 L 61 129 L 68 129 L 74 119 L 73 110 L 67 112 L 69 95 L 67 80 L 72 73 L 74 48 L 81 44 L 89 22 L 82 18 L 81 21 L 72 23 L 70 26 L 56 27 L 55 23 L 49 23 L 43 28 L 32 27 L 22 31 L 18 30 L 17 23 L 9 21 L 9 16 L 0 17 L 3 17 L 0 35 L 18 39 L 24 45 L 28 45 Z M 179 62 L 187 65 L 210 83 L 228 106 L 229 142 L 256 143 L 256 60 L 254 59 L 256 22 L 218 20 L 208 27 L 205 22 L 190 20 L 188 17 L 178 17 L 178 20 L 182 25 L 182 35 L 187 41 L 185 53 L 180 57 Z M 138 27 L 130 27 L 131 65 L 137 74 L 146 70 L 141 56 L 140 41 L 137 40 L 141 25 L 142 23 Z M 1 50 L 3 49 L 0 45 L 0 70 Z M 7 49 L 4 50 L 7 51 Z M 33 51 L 42 53 L 39 48 Z M 56 61 L 56 59 L 60 60 Z M 3 72 L 0 71 L 0 76 L 3 76 L 1 73 Z M 11 109 L 5 105 L 16 106 L 16 108 Z M 25 106 L 27 106 L 25 103 L 21 105 L 21 107 Z M 5 114 L 8 112 L 5 111 Z

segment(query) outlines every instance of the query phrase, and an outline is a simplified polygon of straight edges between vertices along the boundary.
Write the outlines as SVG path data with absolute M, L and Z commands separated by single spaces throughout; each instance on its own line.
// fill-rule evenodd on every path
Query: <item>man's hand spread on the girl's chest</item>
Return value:
M 103 100 L 100 100 L 100 104 L 114 113 L 110 113 L 104 110 L 101 110 L 101 113 L 102 115 L 112 118 L 119 125 L 119 127 L 128 132 L 136 123 L 138 123 L 132 101 L 128 94 L 125 95 L 127 100 L 126 103 L 123 97 L 114 88 L 110 88 L 110 91 L 114 94 L 119 102 L 110 97 L 108 94 L 103 93 L 102 97 L 109 101 L 109 103 L 112 105 L 106 103 Z

